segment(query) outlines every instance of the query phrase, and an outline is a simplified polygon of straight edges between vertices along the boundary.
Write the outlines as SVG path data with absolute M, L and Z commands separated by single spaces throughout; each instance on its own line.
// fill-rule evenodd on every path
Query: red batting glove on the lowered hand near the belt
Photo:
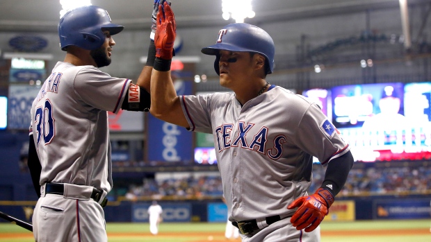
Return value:
M 323 188 L 319 188 L 311 196 L 298 198 L 287 207 L 287 209 L 299 207 L 291 218 L 292 225 L 297 230 L 305 229 L 305 232 L 315 230 L 327 216 L 332 203 L 334 203 L 334 196 L 329 190 Z

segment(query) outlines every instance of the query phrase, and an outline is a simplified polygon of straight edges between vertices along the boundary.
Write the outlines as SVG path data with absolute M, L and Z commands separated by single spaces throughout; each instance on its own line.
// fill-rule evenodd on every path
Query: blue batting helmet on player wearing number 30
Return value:
M 111 35 L 120 33 L 124 26 L 111 23 L 106 10 L 97 6 L 83 6 L 66 12 L 58 23 L 60 48 L 65 51 L 67 46 L 79 46 L 93 50 L 105 42 L 103 31 Z

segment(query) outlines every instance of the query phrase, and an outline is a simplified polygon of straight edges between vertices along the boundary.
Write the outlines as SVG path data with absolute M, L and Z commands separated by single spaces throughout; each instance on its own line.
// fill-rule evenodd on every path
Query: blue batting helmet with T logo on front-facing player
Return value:
M 220 50 L 259 53 L 266 58 L 266 74 L 273 73 L 275 46 L 273 38 L 263 29 L 245 23 L 228 24 L 218 31 L 217 43 L 201 52 L 206 55 L 218 55 Z M 214 69 L 218 75 L 218 58 L 215 59 Z

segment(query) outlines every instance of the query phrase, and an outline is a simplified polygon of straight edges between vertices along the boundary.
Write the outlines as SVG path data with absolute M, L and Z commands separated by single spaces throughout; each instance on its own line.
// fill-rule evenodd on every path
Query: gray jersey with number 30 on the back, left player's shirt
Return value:
M 111 191 L 108 113 L 116 113 L 131 80 L 92 66 L 58 62 L 31 107 L 30 132 L 46 182 Z

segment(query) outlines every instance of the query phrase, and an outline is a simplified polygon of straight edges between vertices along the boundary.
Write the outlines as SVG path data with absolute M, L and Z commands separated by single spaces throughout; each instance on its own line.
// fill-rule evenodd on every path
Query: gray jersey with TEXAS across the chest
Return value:
M 320 107 L 272 85 L 241 107 L 233 93 L 180 96 L 190 130 L 213 133 L 230 221 L 293 213 L 325 165 L 350 149 Z

